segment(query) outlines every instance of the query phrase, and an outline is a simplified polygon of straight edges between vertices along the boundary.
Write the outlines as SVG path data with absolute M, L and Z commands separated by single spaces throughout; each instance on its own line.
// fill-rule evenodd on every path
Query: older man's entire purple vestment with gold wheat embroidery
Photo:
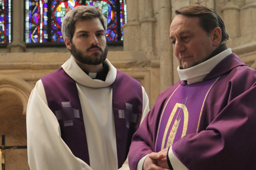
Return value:
M 177 82 L 162 92 L 133 136 L 131 170 L 167 146 L 188 168 L 256 169 L 256 71 L 236 54 L 202 82 Z

